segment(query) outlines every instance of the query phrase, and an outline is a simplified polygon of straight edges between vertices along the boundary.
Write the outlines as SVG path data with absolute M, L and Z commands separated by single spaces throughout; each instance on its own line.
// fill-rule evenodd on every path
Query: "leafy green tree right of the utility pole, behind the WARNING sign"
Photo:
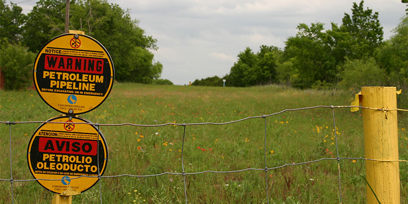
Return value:
M 116 80 L 152 83 L 160 77 L 163 65 L 154 63 L 156 39 L 146 36 L 129 11 L 102 0 L 78 1 L 73 6 L 70 25 L 98 39 L 115 64 Z

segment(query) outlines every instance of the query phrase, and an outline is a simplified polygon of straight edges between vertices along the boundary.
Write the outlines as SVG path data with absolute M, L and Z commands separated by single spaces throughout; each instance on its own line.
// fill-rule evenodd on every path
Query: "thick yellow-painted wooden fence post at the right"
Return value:
M 362 87 L 364 107 L 395 109 L 395 87 Z M 365 157 L 398 160 L 397 111 L 363 108 Z M 381 203 L 400 203 L 399 163 L 366 160 L 366 178 Z M 367 203 L 378 203 L 367 185 Z

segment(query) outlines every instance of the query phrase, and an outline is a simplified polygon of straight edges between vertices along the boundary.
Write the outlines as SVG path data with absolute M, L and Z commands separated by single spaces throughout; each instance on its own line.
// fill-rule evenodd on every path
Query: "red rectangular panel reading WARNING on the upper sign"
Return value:
M 64 72 L 103 74 L 103 59 L 46 54 L 44 69 Z

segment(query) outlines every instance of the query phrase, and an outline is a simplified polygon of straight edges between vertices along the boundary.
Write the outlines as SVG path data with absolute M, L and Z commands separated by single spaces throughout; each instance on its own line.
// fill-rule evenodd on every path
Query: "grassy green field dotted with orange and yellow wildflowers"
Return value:
M 353 95 L 300 91 L 277 86 L 230 88 L 153 86 L 116 83 L 106 101 L 81 116 L 98 123 L 162 124 L 227 122 L 284 109 L 350 105 Z M 364 157 L 361 110 L 330 108 L 285 112 L 266 118 L 267 167 L 336 157 Z M 0 121 L 44 121 L 59 115 L 35 90 L 0 92 Z M 398 112 L 399 157 L 408 159 L 408 117 Z M 12 125 L 13 178 L 32 179 L 27 145 L 39 125 Z M 102 126 L 109 151 L 104 176 L 181 173 L 182 126 Z M 10 178 L 9 126 L 0 125 L 0 178 Z M 186 126 L 186 173 L 264 168 L 264 119 L 228 125 Z M 341 160 L 344 203 L 365 203 L 364 161 Z M 271 203 L 339 203 L 336 160 L 287 166 L 267 172 Z M 408 164 L 400 163 L 401 202 L 408 203 Z M 183 177 L 161 175 L 101 179 L 104 203 L 185 202 Z M 53 194 L 37 182 L 14 182 L 15 203 L 50 203 Z M 189 203 L 266 203 L 265 172 L 203 173 L 186 176 Z M 73 203 L 98 203 L 99 185 L 76 195 Z M 0 203 L 11 203 L 10 182 L 0 181 Z

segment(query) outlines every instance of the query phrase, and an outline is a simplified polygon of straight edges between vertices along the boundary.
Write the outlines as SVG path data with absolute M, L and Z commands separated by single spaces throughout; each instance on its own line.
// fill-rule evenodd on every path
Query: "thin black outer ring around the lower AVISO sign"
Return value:
M 48 119 L 47 122 L 51 122 L 52 120 L 56 120 L 56 119 L 59 119 L 59 118 L 65 118 L 65 117 L 66 117 L 66 118 L 72 117 L 72 118 L 75 118 L 75 119 L 78 119 L 78 120 L 82 120 L 82 121 L 87 122 L 87 123 L 92 123 L 91 121 L 89 121 L 89 120 L 87 120 L 87 119 L 85 119 L 85 118 L 75 117 L 75 116 L 57 116 L 57 117 L 53 117 L 53 118 Z M 29 157 L 29 155 L 31 154 L 31 152 L 30 152 L 30 144 L 31 144 L 31 142 L 32 142 L 33 139 L 34 139 L 35 133 L 37 133 L 37 131 L 38 131 L 42 126 L 44 126 L 45 124 L 46 124 L 46 123 L 42 123 L 40 126 L 37 127 L 37 129 L 35 129 L 35 131 L 34 131 L 32 137 L 30 138 L 30 141 L 29 141 L 28 147 L 27 147 L 27 165 L 28 165 L 28 169 L 29 169 L 31 175 L 32 175 L 35 179 L 37 179 L 37 178 L 34 176 L 33 172 L 31 171 L 31 169 L 30 169 L 30 162 L 28 161 L 28 157 Z M 89 125 L 91 125 L 91 124 L 89 124 Z M 99 172 L 99 174 L 102 176 L 102 175 L 105 173 L 105 170 L 106 170 L 106 168 L 107 168 L 107 166 L 108 166 L 108 156 L 109 156 L 108 145 L 106 144 L 105 137 L 103 136 L 101 130 L 99 129 L 99 131 L 98 131 L 98 128 L 96 128 L 94 125 L 91 125 L 91 126 L 92 126 L 97 132 L 99 132 L 99 137 L 102 139 L 102 142 L 105 144 L 105 147 L 106 147 L 106 161 L 105 161 L 106 164 L 105 164 L 105 168 L 102 169 L 102 171 Z M 98 143 L 99 143 L 99 140 L 98 140 Z M 99 151 L 99 150 L 97 150 L 97 151 Z M 29 153 L 30 153 L 30 154 L 29 154 Z M 94 184 L 92 184 L 91 186 L 89 186 L 89 188 L 87 188 L 87 189 L 81 191 L 81 193 L 83 193 L 83 192 L 85 192 L 85 191 L 91 189 L 96 183 L 99 182 L 99 180 L 100 180 L 100 178 L 98 178 L 98 180 L 96 180 L 96 182 L 95 182 Z M 36 180 L 36 181 L 37 181 L 38 184 L 40 184 L 43 188 L 47 189 L 48 191 L 58 194 L 58 192 L 54 192 L 54 191 L 52 191 L 52 190 L 46 188 L 45 186 L 43 186 L 38 180 Z

